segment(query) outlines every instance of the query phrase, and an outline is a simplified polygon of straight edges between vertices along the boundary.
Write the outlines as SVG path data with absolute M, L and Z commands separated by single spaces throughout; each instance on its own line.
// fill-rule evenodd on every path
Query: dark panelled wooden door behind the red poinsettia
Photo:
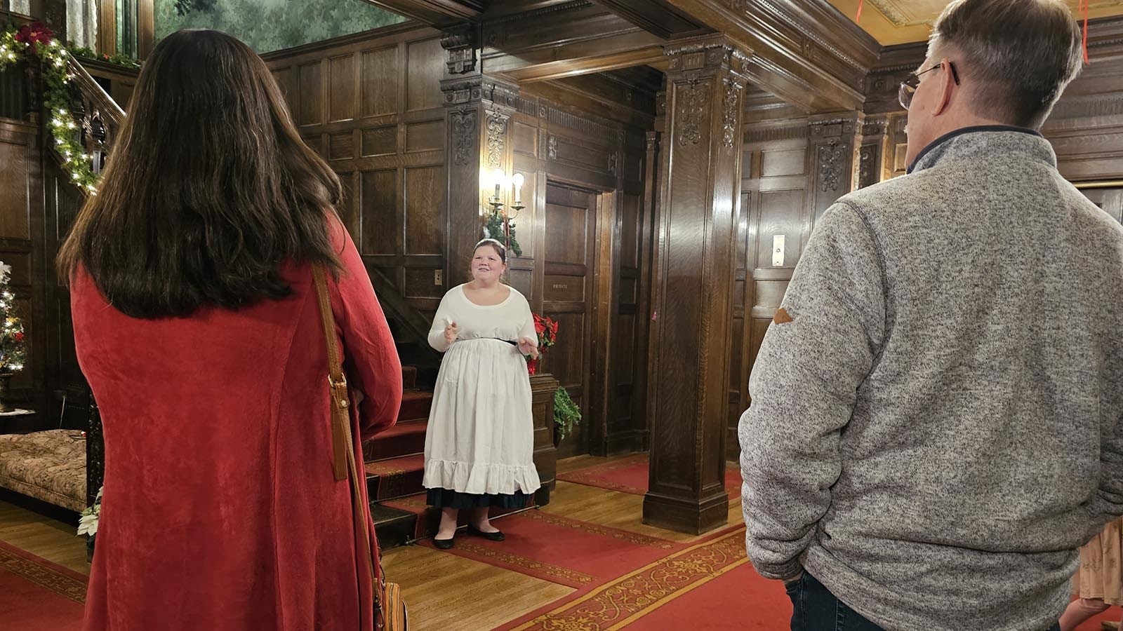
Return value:
M 558 446 L 558 457 L 588 452 L 596 194 L 547 183 L 542 314 L 558 322 L 557 344 L 542 369 L 581 408 L 582 424 Z

